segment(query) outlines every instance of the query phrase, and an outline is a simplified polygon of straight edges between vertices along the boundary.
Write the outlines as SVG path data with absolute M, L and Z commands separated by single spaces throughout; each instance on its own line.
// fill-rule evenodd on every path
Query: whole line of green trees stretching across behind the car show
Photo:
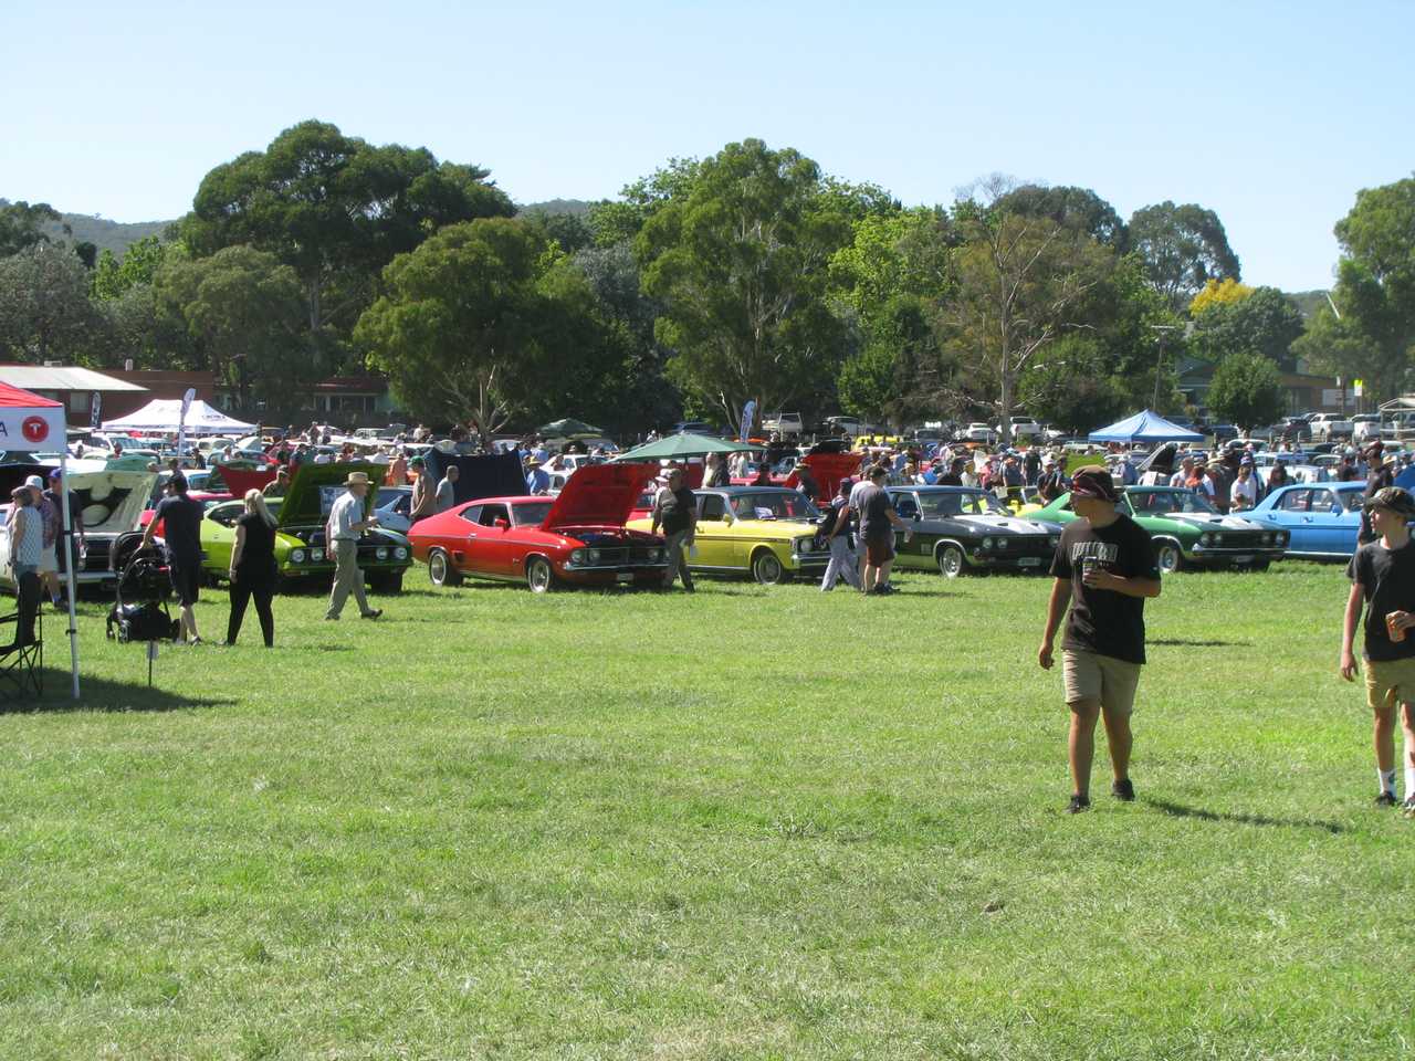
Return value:
M 1306 320 L 1241 283 L 1196 204 L 1122 219 L 1087 188 L 992 177 L 904 207 L 760 140 L 583 214 L 521 212 L 484 167 L 304 122 L 122 257 L 50 239 L 57 216 L 0 207 L 0 354 L 211 371 L 270 419 L 303 385 L 375 371 L 410 416 L 488 430 L 732 423 L 749 398 L 1087 429 L 1184 412 L 1177 368 L 1197 358 L 1211 412 L 1252 426 L 1283 412 L 1299 358 L 1390 396 L 1415 344 L 1415 180 L 1357 195 L 1332 304 Z

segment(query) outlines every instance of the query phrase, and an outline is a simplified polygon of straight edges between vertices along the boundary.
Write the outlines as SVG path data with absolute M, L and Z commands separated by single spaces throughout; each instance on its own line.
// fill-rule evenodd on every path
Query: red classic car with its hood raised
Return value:
M 481 498 L 419 519 L 408 532 L 413 559 L 433 586 L 466 576 L 525 581 L 545 593 L 560 584 L 658 586 L 664 539 L 624 522 L 657 464 L 591 464 L 559 497 Z

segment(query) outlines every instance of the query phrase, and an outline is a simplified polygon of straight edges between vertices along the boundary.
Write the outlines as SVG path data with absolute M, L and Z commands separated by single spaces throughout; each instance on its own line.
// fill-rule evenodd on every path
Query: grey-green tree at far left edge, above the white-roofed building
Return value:
M 88 272 L 62 245 L 38 242 L 0 259 L 0 349 L 16 361 L 85 364 L 108 323 L 88 296 Z

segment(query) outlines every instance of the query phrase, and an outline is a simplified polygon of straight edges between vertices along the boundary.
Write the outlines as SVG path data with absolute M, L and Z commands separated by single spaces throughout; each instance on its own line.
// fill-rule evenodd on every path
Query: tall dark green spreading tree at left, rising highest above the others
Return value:
M 198 257 L 236 245 L 275 255 L 300 279 L 307 330 L 347 335 L 396 255 L 444 225 L 515 212 L 488 175 L 303 122 L 208 173 L 181 233 Z

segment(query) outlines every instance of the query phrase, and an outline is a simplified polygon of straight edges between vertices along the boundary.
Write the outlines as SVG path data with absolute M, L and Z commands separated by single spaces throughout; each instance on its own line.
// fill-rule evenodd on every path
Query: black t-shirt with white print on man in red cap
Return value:
M 1122 579 L 1159 579 L 1149 530 L 1126 515 L 1102 528 L 1091 526 L 1090 519 L 1077 519 L 1061 532 L 1051 559 L 1051 574 L 1071 580 L 1071 614 L 1061 648 L 1143 663 L 1145 598 L 1082 583 L 1087 557 Z

